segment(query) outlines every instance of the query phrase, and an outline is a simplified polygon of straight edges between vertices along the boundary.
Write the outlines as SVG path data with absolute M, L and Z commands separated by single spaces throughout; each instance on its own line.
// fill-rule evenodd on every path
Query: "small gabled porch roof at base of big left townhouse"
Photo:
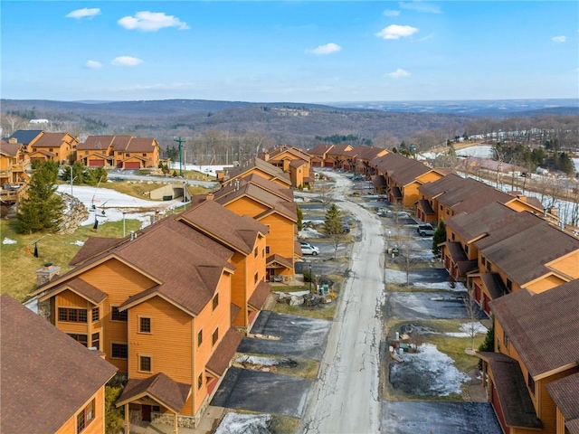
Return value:
M 178 413 L 191 392 L 191 384 L 176 382 L 165 373 L 156 373 L 145 379 L 130 379 L 117 400 L 117 407 L 147 395 L 169 410 Z

